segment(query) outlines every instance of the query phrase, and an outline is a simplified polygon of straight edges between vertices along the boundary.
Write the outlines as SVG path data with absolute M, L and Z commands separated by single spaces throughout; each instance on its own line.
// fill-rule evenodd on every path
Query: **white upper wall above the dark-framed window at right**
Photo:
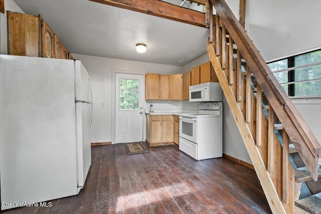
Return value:
M 265 61 L 321 47 L 321 1 L 246 1 L 245 29 Z

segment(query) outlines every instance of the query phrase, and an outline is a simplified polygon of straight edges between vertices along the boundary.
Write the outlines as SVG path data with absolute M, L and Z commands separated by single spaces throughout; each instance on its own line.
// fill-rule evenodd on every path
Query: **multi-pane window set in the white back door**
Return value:
M 137 79 L 119 80 L 120 110 L 138 110 L 139 81 Z

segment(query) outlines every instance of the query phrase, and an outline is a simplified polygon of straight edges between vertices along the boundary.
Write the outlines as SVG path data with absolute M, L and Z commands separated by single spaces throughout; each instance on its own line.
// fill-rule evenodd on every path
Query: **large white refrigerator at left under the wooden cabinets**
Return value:
M 0 89 L 1 209 L 78 194 L 91 165 L 85 67 L 0 55 Z

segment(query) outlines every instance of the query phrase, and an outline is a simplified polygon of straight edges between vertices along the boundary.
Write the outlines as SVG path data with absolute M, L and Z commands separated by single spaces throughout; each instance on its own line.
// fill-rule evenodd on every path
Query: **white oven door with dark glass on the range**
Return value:
M 180 116 L 180 137 L 197 144 L 197 118 Z

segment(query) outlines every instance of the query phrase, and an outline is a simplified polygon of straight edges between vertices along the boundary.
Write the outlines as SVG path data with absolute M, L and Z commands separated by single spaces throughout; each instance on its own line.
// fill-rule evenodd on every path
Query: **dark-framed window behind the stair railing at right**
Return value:
M 267 64 L 289 96 L 321 95 L 321 50 Z

